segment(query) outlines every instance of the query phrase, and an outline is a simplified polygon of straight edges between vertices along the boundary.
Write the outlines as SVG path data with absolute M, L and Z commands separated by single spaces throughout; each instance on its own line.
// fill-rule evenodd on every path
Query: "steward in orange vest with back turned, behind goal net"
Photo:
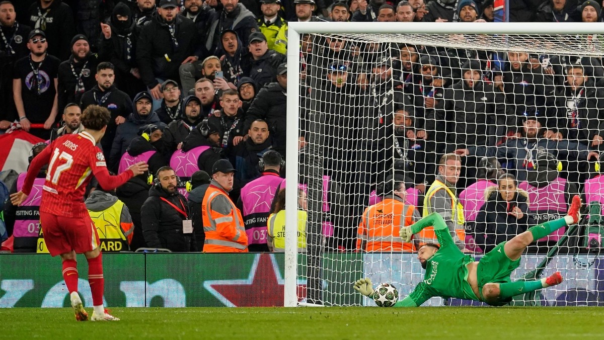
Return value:
M 405 204 L 404 177 L 395 175 L 394 180 L 388 177 L 384 187 L 377 188 L 377 194 L 381 194 L 384 200 L 365 209 L 359 224 L 356 249 L 367 252 L 416 251 L 413 243 L 403 242 L 399 237 L 402 226 L 410 226 L 421 218 L 416 207 Z

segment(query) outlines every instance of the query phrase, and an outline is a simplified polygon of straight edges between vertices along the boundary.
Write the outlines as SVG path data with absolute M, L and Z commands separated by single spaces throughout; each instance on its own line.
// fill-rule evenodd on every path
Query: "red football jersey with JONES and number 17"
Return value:
M 64 135 L 34 158 L 22 191 L 29 193 L 31 185 L 28 185 L 28 179 L 35 177 L 39 167 L 48 164 L 40 211 L 65 217 L 88 214 L 84 193 L 91 175 L 97 177 L 99 184 L 106 190 L 118 187 L 132 178 L 132 171 L 109 176 L 103 152 L 95 143 L 94 137 L 88 132 Z

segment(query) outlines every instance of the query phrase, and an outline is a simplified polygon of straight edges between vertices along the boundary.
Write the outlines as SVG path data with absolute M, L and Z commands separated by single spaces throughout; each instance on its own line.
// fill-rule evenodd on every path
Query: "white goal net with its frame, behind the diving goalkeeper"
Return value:
M 401 225 L 437 211 L 478 260 L 578 193 L 590 215 L 530 245 L 511 275 L 564 283 L 515 303 L 604 303 L 602 29 L 358 25 L 290 27 L 286 205 L 307 224 L 297 250 L 288 210 L 286 305 L 374 306 L 352 289 L 362 277 L 405 297 L 424 277 L 417 249 L 436 240 L 402 243 Z

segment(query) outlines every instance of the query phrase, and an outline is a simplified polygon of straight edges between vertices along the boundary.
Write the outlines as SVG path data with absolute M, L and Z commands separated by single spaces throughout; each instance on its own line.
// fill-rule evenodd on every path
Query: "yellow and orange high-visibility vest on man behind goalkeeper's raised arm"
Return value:
M 451 197 L 451 208 L 453 210 L 451 212 L 451 219 L 457 226 L 457 228 L 455 228 L 455 234 L 457 234 L 457 237 L 459 237 L 461 242 L 465 242 L 466 229 L 464 228 L 464 223 L 466 223 L 466 220 L 464 219 L 463 205 L 461 205 L 453 191 L 451 191 L 449 187 L 447 187 L 443 182 L 439 181 L 438 179 L 432 182 L 432 185 L 430 185 L 430 188 L 428 189 L 428 191 L 426 191 L 426 196 L 423 199 L 422 217 L 426 217 L 434 211 L 432 207 L 430 207 L 430 198 L 434 196 L 436 191 L 439 190 L 445 190 L 446 193 Z M 428 242 L 439 243 L 439 239 L 434 233 L 434 228 L 431 226 L 428 226 L 428 228 L 423 228 L 422 231 L 420 231 L 418 234 L 420 245 L 423 245 Z

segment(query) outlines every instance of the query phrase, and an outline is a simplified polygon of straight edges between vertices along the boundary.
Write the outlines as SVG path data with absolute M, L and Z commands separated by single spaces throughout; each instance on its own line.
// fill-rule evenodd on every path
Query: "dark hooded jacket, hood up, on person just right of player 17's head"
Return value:
M 117 167 L 117 163 L 120 161 L 121 155 L 126 152 L 127 147 L 130 145 L 130 142 L 134 137 L 138 135 L 138 130 L 147 125 L 147 124 L 156 124 L 156 125 L 164 125 L 159 120 L 158 115 L 155 112 L 149 112 L 149 115 L 141 116 L 138 114 L 136 109 L 137 101 L 141 98 L 151 98 L 151 95 L 147 92 L 140 92 L 134 97 L 132 101 L 133 111 L 127 118 L 127 120 L 118 125 L 117 132 L 115 133 L 115 138 L 113 141 L 113 146 L 111 147 L 111 153 L 109 153 L 109 167 L 114 169 Z

